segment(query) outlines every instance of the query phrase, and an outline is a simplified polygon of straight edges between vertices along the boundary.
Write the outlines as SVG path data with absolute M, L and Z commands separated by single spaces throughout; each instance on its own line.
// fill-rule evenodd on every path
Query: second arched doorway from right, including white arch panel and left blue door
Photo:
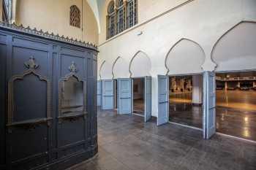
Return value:
M 165 58 L 166 77 L 159 77 L 159 117 L 203 128 L 203 69 L 206 55 L 197 42 L 180 39 Z M 161 123 L 159 123 L 161 124 Z

